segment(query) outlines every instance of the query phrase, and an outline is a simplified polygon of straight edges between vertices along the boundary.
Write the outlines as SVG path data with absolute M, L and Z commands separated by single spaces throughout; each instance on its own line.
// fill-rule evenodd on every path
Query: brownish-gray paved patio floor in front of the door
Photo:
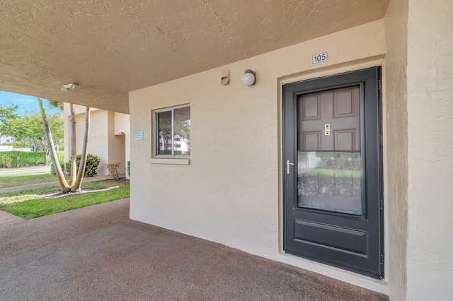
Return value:
M 128 214 L 129 199 L 33 220 L 0 211 L 0 300 L 388 300 Z

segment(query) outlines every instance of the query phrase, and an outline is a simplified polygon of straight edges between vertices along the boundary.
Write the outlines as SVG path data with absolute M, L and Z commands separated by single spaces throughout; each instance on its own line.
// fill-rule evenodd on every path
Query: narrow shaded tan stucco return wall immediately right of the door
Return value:
M 408 0 L 392 0 L 384 18 L 386 57 L 383 105 L 386 278 L 391 300 L 406 300 L 408 239 Z

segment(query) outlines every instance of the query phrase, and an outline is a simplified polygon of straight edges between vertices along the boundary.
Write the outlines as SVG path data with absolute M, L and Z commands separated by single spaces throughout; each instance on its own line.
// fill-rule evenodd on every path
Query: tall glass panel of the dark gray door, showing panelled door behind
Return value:
M 299 96 L 298 206 L 362 215 L 360 87 Z

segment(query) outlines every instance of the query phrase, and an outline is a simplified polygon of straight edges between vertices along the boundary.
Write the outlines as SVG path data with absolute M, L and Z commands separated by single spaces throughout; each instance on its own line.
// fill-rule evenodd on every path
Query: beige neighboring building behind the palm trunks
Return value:
M 64 162 L 70 161 L 71 135 L 69 120 L 71 119 L 70 105 L 64 103 Z M 84 106 L 75 106 L 76 111 L 76 141 L 77 154 L 82 151 L 85 134 Z M 119 173 L 125 174 L 125 167 L 129 159 L 129 115 L 106 110 L 91 108 L 90 110 L 90 138 L 88 153 L 101 158 L 97 175 L 108 175 L 104 164 L 120 163 Z

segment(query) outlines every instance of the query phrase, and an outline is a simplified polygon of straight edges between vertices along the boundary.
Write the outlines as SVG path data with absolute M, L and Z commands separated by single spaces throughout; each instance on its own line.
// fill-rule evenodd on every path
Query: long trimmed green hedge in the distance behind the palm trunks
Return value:
M 63 152 L 57 153 L 60 161 L 63 161 Z M 0 167 L 17 167 L 17 158 L 19 157 L 19 167 L 44 165 L 45 155 L 42 152 L 30 151 L 1 151 Z M 51 160 L 50 160 L 51 161 Z M 9 166 L 11 165 L 11 166 Z

